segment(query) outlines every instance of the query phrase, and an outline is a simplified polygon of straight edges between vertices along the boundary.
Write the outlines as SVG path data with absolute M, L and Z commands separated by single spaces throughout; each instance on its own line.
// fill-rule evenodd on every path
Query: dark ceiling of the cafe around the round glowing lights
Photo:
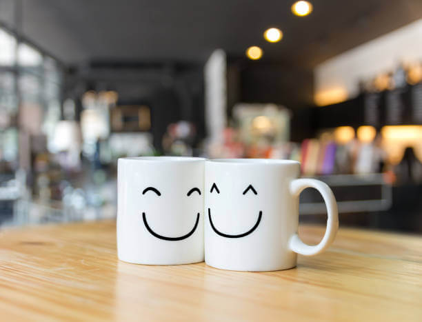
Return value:
M 0 21 L 68 64 L 203 62 L 215 48 L 242 57 L 258 45 L 267 61 L 310 68 L 422 17 L 421 0 L 311 0 L 303 18 L 282 0 L 22 0 L 14 14 L 11 2 L 0 0 Z M 270 26 L 281 42 L 263 40 Z

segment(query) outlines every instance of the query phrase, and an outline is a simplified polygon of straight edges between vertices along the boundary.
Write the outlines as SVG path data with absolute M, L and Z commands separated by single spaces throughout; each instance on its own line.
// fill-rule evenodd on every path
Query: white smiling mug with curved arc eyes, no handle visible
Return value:
M 119 259 L 151 265 L 203 261 L 204 160 L 119 159 Z

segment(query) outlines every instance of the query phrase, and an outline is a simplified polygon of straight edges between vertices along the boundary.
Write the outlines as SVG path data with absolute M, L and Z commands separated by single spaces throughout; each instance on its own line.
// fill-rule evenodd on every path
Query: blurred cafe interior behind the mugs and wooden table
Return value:
M 112 219 L 147 155 L 298 160 L 421 233 L 422 1 L 0 0 L 1 225 Z

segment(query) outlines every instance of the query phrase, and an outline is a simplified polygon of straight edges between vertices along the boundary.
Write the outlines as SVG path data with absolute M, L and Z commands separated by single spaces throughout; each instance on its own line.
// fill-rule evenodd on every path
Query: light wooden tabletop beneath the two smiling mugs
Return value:
M 301 229 L 316 243 L 323 228 Z M 422 321 L 422 238 L 339 230 L 281 272 L 117 260 L 114 222 L 0 233 L 1 321 Z

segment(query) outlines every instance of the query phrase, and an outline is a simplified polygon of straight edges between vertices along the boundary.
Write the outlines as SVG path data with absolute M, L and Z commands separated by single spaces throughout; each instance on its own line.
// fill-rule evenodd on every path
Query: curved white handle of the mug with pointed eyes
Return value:
M 339 211 L 337 210 L 336 198 L 326 183 L 307 178 L 295 179 L 290 183 L 290 193 L 297 199 L 299 199 L 299 194 L 305 188 L 315 188 L 323 197 L 328 214 L 327 228 L 325 229 L 323 239 L 318 245 L 307 245 L 303 243 L 296 233 L 290 237 L 289 247 L 293 252 L 297 252 L 298 254 L 312 256 L 323 252 L 334 241 L 336 232 L 339 229 Z

